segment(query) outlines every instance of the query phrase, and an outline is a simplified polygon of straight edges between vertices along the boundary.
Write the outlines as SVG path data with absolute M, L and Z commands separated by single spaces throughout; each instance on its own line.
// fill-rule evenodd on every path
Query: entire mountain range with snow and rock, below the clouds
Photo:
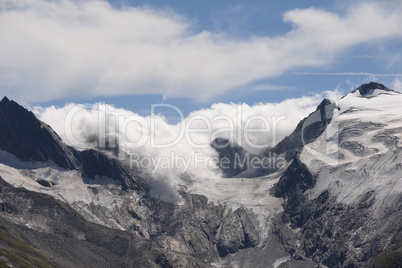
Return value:
M 4 98 L 0 264 L 399 267 L 401 103 L 374 82 L 323 100 L 275 147 L 249 155 L 280 166 L 241 165 L 249 153 L 218 138 L 225 178 L 203 192 L 180 186 L 176 202 L 151 194 L 149 174 L 65 145 Z

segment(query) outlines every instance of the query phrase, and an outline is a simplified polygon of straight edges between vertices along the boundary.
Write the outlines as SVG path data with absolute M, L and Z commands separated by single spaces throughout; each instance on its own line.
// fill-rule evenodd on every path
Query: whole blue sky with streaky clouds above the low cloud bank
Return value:
M 146 114 L 279 102 L 376 80 L 401 90 L 400 1 L 9 1 L 2 95 Z

